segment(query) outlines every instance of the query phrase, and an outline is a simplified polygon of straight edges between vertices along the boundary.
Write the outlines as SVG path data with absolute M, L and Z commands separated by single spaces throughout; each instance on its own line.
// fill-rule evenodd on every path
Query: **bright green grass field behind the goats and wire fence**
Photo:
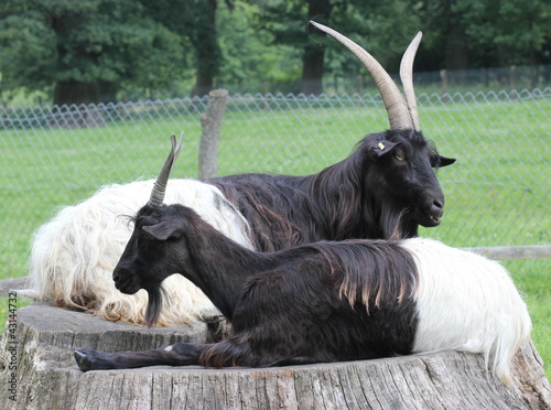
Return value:
M 441 154 L 458 160 L 439 171 L 444 222 L 422 235 L 465 247 L 551 244 L 551 99 L 434 104 L 420 111 L 425 136 Z M 60 206 L 107 183 L 154 176 L 170 133 L 186 132 L 173 176 L 196 177 L 198 115 L 147 117 L 94 129 L 0 131 L 0 279 L 28 274 L 32 233 Z M 316 172 L 345 158 L 366 131 L 387 127 L 379 106 L 233 108 L 224 122 L 218 174 Z M 549 377 L 551 263 L 505 265 L 526 294 Z M 0 303 L 4 314 L 7 301 Z

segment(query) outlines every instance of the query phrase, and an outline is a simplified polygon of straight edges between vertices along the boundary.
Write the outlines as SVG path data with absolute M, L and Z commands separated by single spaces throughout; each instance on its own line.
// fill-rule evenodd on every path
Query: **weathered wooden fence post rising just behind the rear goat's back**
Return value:
M 208 105 L 201 116 L 203 134 L 199 144 L 199 179 L 216 176 L 218 140 L 227 101 L 227 89 L 213 89 L 208 93 Z

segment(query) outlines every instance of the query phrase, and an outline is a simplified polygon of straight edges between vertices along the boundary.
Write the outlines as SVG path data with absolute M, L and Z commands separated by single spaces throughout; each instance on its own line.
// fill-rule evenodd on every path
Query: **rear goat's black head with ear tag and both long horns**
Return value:
M 432 169 L 450 165 L 455 160 L 439 155 L 420 129 L 412 73 L 421 32 L 406 50 L 400 64 L 403 98 L 392 78 L 367 51 L 323 24 L 311 23 L 341 42 L 361 62 L 382 97 L 391 129 L 366 137 L 358 147 L 358 151 L 367 151 L 364 152 L 368 155 L 365 158 L 375 159 L 374 166 L 379 169 L 370 170 L 366 180 L 370 190 L 381 190 L 379 198 L 388 199 L 387 203 L 379 204 L 379 209 L 389 215 L 397 215 L 402 211 L 406 213 L 402 220 L 409 228 L 406 229 L 407 233 L 401 233 L 404 236 L 417 235 L 418 225 L 439 225 L 443 215 L 444 195 Z M 388 218 L 389 227 L 392 220 L 396 222 L 396 218 Z M 389 227 L 383 227 L 382 230 L 388 234 Z

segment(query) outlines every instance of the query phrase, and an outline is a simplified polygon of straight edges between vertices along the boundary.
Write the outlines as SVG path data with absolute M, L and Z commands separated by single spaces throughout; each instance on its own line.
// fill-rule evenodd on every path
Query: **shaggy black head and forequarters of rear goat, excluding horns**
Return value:
M 381 149 L 382 148 L 382 149 Z M 337 164 L 309 176 L 240 174 L 206 180 L 249 222 L 256 249 L 318 240 L 417 236 L 436 226 L 444 195 L 434 173 L 455 160 L 421 132 L 370 134 Z

